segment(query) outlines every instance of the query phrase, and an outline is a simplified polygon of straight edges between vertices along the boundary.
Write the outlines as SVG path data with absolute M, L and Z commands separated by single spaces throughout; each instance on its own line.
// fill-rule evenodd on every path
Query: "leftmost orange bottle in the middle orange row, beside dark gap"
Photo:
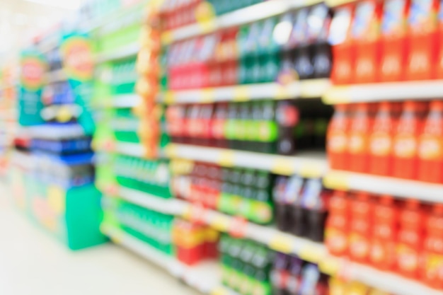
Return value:
M 337 105 L 326 134 L 326 151 L 330 167 L 338 170 L 347 168 L 347 132 L 351 122 L 350 105 Z

